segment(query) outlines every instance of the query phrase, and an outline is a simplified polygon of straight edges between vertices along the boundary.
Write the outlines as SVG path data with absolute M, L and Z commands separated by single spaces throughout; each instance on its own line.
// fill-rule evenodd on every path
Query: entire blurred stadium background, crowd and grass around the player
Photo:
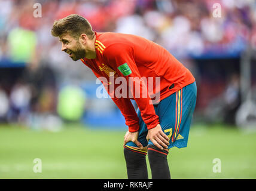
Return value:
M 150 39 L 196 77 L 188 147 L 168 156 L 172 178 L 256 178 L 254 0 L 0 0 L 0 178 L 127 178 L 123 116 L 50 34 L 69 14 L 97 32 Z

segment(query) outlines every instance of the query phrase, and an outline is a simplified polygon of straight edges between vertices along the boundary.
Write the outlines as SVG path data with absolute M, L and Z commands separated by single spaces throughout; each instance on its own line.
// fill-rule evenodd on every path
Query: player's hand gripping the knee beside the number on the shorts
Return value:
M 159 149 L 163 149 L 163 147 L 167 149 L 169 145 L 169 138 L 163 133 L 159 124 L 148 130 L 147 140 L 151 140 Z

